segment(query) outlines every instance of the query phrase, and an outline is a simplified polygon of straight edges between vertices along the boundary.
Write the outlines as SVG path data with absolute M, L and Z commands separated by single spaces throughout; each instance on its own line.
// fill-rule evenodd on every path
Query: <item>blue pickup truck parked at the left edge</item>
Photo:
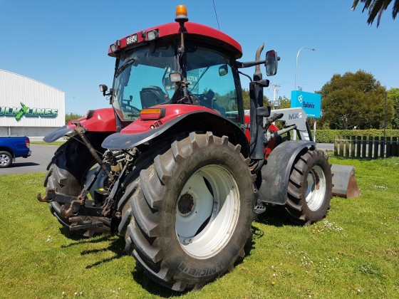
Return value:
M 16 157 L 31 155 L 31 141 L 26 136 L 0 136 L 0 168 L 9 167 Z

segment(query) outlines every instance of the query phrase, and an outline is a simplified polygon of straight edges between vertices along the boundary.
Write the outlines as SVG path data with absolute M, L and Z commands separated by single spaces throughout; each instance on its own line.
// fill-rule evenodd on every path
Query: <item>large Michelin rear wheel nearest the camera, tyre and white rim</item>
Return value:
M 128 185 L 119 229 L 150 278 L 200 288 L 244 258 L 257 196 L 248 164 L 227 137 L 191 133 Z

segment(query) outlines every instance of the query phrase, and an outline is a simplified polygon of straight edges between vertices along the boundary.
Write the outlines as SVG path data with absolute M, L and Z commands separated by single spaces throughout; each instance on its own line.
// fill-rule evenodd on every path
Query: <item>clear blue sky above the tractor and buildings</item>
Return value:
M 0 0 L 0 68 L 63 90 L 68 113 L 108 107 L 98 85 L 112 85 L 110 43 L 174 21 L 177 4 L 187 6 L 190 21 L 217 28 L 212 0 Z M 269 78 L 280 85 L 278 96 L 290 98 L 295 73 L 297 85 L 309 92 L 320 90 L 335 73 L 359 69 L 388 89 L 399 88 L 399 19 L 392 19 L 392 5 L 376 28 L 368 26 L 361 6 L 351 11 L 351 0 L 214 4 L 220 30 L 242 45 L 240 61 L 253 61 L 261 43 L 265 51 L 279 53 L 279 72 Z M 296 69 L 301 47 L 316 51 L 303 49 Z M 242 85 L 248 87 L 246 78 Z M 264 93 L 273 98 L 272 88 Z

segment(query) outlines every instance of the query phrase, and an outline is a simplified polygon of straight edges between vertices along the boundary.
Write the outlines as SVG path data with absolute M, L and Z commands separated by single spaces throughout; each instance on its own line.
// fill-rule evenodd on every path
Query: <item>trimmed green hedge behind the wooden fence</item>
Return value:
M 314 135 L 314 130 L 311 130 Z M 336 137 L 357 137 L 357 136 L 373 136 L 383 137 L 384 130 L 317 130 L 316 142 L 319 143 L 333 143 Z M 399 137 L 399 130 L 385 130 L 385 137 Z

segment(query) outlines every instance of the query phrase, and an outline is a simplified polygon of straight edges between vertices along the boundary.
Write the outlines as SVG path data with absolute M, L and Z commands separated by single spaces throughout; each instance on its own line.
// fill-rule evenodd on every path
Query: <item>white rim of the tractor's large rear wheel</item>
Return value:
M 176 234 L 191 256 L 209 258 L 229 241 L 238 216 L 237 182 L 224 167 L 208 165 L 195 172 L 180 193 Z

